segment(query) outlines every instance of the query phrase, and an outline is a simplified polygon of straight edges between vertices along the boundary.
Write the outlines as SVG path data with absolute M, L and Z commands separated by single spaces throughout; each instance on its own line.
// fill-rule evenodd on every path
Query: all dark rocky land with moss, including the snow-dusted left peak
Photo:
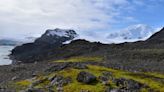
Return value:
M 76 36 L 73 30 L 47 30 L 13 49 L 13 64 L 0 67 L 0 92 L 164 92 L 164 28 L 134 43 Z

